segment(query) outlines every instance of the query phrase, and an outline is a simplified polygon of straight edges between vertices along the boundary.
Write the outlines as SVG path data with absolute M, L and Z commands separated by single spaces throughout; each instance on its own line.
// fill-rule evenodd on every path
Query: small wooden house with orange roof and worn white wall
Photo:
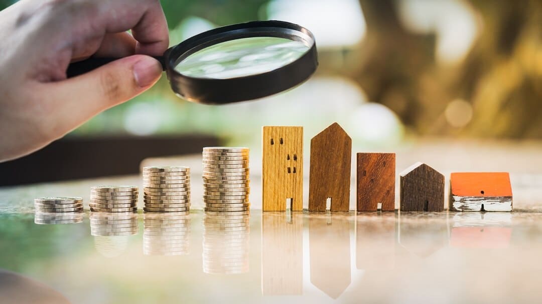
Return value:
M 509 174 L 452 173 L 450 210 L 512 211 L 512 186 Z

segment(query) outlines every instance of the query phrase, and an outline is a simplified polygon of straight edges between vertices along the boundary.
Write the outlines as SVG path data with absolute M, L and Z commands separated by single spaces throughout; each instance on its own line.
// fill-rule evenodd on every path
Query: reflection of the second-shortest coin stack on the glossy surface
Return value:
M 91 213 L 91 234 L 94 236 L 126 236 L 137 234 L 137 214 Z

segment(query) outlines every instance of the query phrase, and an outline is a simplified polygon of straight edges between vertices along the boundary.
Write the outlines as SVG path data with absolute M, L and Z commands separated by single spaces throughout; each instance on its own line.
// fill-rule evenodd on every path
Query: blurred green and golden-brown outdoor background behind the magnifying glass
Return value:
M 304 25 L 317 39 L 317 75 L 265 101 L 224 107 L 180 100 L 163 77 L 69 136 L 201 134 L 256 145 L 262 125 L 304 125 L 312 136 L 337 121 L 370 147 L 420 136 L 542 137 L 538 0 L 160 2 L 172 44 L 255 19 Z

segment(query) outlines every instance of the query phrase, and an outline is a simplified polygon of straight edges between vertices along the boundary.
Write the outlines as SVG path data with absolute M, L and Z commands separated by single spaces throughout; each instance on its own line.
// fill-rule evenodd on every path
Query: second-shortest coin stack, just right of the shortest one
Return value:
M 95 186 L 91 190 L 91 212 L 137 211 L 138 188 L 135 186 Z

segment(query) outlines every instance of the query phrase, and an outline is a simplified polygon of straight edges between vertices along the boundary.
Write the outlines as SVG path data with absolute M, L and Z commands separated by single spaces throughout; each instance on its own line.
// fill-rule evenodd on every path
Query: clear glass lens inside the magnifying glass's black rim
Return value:
M 228 79 L 261 74 L 298 60 L 309 49 L 300 41 L 280 37 L 234 39 L 199 50 L 177 64 L 180 74 Z

